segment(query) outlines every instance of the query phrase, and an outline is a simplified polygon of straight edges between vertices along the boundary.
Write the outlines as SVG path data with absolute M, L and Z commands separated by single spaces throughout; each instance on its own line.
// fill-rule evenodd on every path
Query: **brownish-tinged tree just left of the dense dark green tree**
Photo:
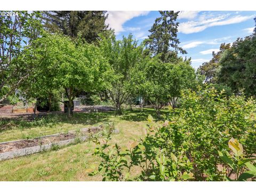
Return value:
M 205 76 L 206 83 L 217 83 L 218 69 L 220 67 L 219 60 L 222 53 L 227 49 L 230 49 L 230 43 L 222 43 L 220 45 L 220 51 L 217 53 L 213 52 L 212 59 L 209 62 L 204 62 L 202 66 L 199 67 L 197 72 Z

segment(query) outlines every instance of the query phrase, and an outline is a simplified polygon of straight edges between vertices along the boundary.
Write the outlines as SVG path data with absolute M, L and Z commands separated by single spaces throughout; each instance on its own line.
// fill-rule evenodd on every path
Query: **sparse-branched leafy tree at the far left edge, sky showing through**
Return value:
M 34 39 L 41 34 L 41 13 L 19 11 L 18 15 L 0 16 L 0 102 L 5 100 L 29 76 L 35 63 L 31 50 Z

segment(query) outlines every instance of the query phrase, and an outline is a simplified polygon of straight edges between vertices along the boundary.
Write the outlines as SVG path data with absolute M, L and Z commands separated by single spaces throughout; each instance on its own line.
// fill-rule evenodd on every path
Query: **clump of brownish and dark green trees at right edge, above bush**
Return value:
M 254 18 L 254 21 L 255 18 Z M 256 34 L 237 38 L 232 45 L 222 43 L 220 51 L 213 53 L 209 62 L 199 67 L 198 73 L 205 75 L 205 82 L 212 83 L 229 94 L 245 94 L 255 97 L 256 88 Z

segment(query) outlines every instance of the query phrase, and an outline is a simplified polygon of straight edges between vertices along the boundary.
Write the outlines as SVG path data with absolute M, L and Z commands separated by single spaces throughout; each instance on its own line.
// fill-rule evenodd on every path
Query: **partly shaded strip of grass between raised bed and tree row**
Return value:
M 163 110 L 166 114 L 167 110 Z M 145 121 L 147 116 L 155 116 L 153 109 L 134 109 L 134 111 L 124 111 L 124 115 L 115 116 L 114 111 L 98 113 L 74 113 L 74 116 L 67 118 L 65 114 L 50 114 L 36 118 L 35 121 L 28 122 L 24 119 L 4 120 L 0 122 L 0 142 L 20 139 L 31 139 L 44 135 L 78 130 L 85 127 L 97 126 L 106 122 Z

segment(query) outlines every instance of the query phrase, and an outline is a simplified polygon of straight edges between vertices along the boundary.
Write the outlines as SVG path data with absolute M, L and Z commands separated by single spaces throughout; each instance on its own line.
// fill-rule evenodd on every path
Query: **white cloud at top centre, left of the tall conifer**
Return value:
M 108 18 L 105 23 L 109 24 L 109 27 L 115 29 L 115 33 L 118 34 L 125 31 L 123 24 L 126 21 L 140 15 L 147 15 L 149 11 L 108 11 Z

